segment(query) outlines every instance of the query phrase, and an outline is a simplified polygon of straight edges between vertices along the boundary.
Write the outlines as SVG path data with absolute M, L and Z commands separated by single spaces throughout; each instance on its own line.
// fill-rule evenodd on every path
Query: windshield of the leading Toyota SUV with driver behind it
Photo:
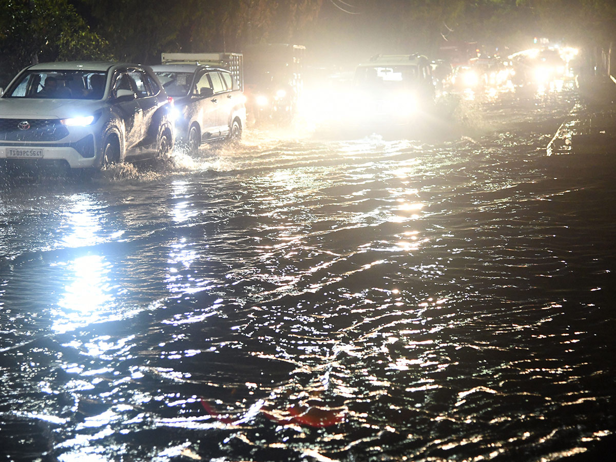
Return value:
M 101 99 L 106 84 L 106 71 L 31 70 L 7 89 L 4 97 Z

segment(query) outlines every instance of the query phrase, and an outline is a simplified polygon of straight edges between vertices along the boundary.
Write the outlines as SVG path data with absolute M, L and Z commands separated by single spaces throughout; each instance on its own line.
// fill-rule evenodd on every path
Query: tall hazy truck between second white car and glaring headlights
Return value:
M 246 109 L 251 121 L 285 123 L 298 110 L 304 88 L 306 47 L 286 43 L 247 46 L 245 60 Z

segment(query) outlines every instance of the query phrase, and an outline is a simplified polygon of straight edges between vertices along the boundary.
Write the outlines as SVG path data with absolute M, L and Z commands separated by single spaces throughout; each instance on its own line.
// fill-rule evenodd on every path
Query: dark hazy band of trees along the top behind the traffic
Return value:
M 0 0 L 0 11 L 5 75 L 37 58 L 157 63 L 260 42 L 364 56 L 446 41 L 515 49 L 532 36 L 608 48 L 616 31 L 614 0 Z

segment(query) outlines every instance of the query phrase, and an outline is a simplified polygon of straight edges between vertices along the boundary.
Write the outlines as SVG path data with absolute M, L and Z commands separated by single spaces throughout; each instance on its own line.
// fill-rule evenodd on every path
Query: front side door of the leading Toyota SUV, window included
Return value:
M 119 71 L 114 76 L 111 86 L 114 98 L 113 108 L 116 116 L 124 126 L 124 149 L 129 150 L 134 147 L 141 139 L 140 130 L 142 128 L 143 111 L 135 97 L 118 97 L 118 90 L 129 90 L 134 93 L 134 85 L 127 70 Z

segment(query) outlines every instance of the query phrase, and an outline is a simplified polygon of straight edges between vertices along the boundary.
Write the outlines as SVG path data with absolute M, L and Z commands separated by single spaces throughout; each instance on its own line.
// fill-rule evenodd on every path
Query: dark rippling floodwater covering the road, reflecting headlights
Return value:
M 600 460 L 614 162 L 545 156 L 576 98 L 0 177 L 0 459 Z

